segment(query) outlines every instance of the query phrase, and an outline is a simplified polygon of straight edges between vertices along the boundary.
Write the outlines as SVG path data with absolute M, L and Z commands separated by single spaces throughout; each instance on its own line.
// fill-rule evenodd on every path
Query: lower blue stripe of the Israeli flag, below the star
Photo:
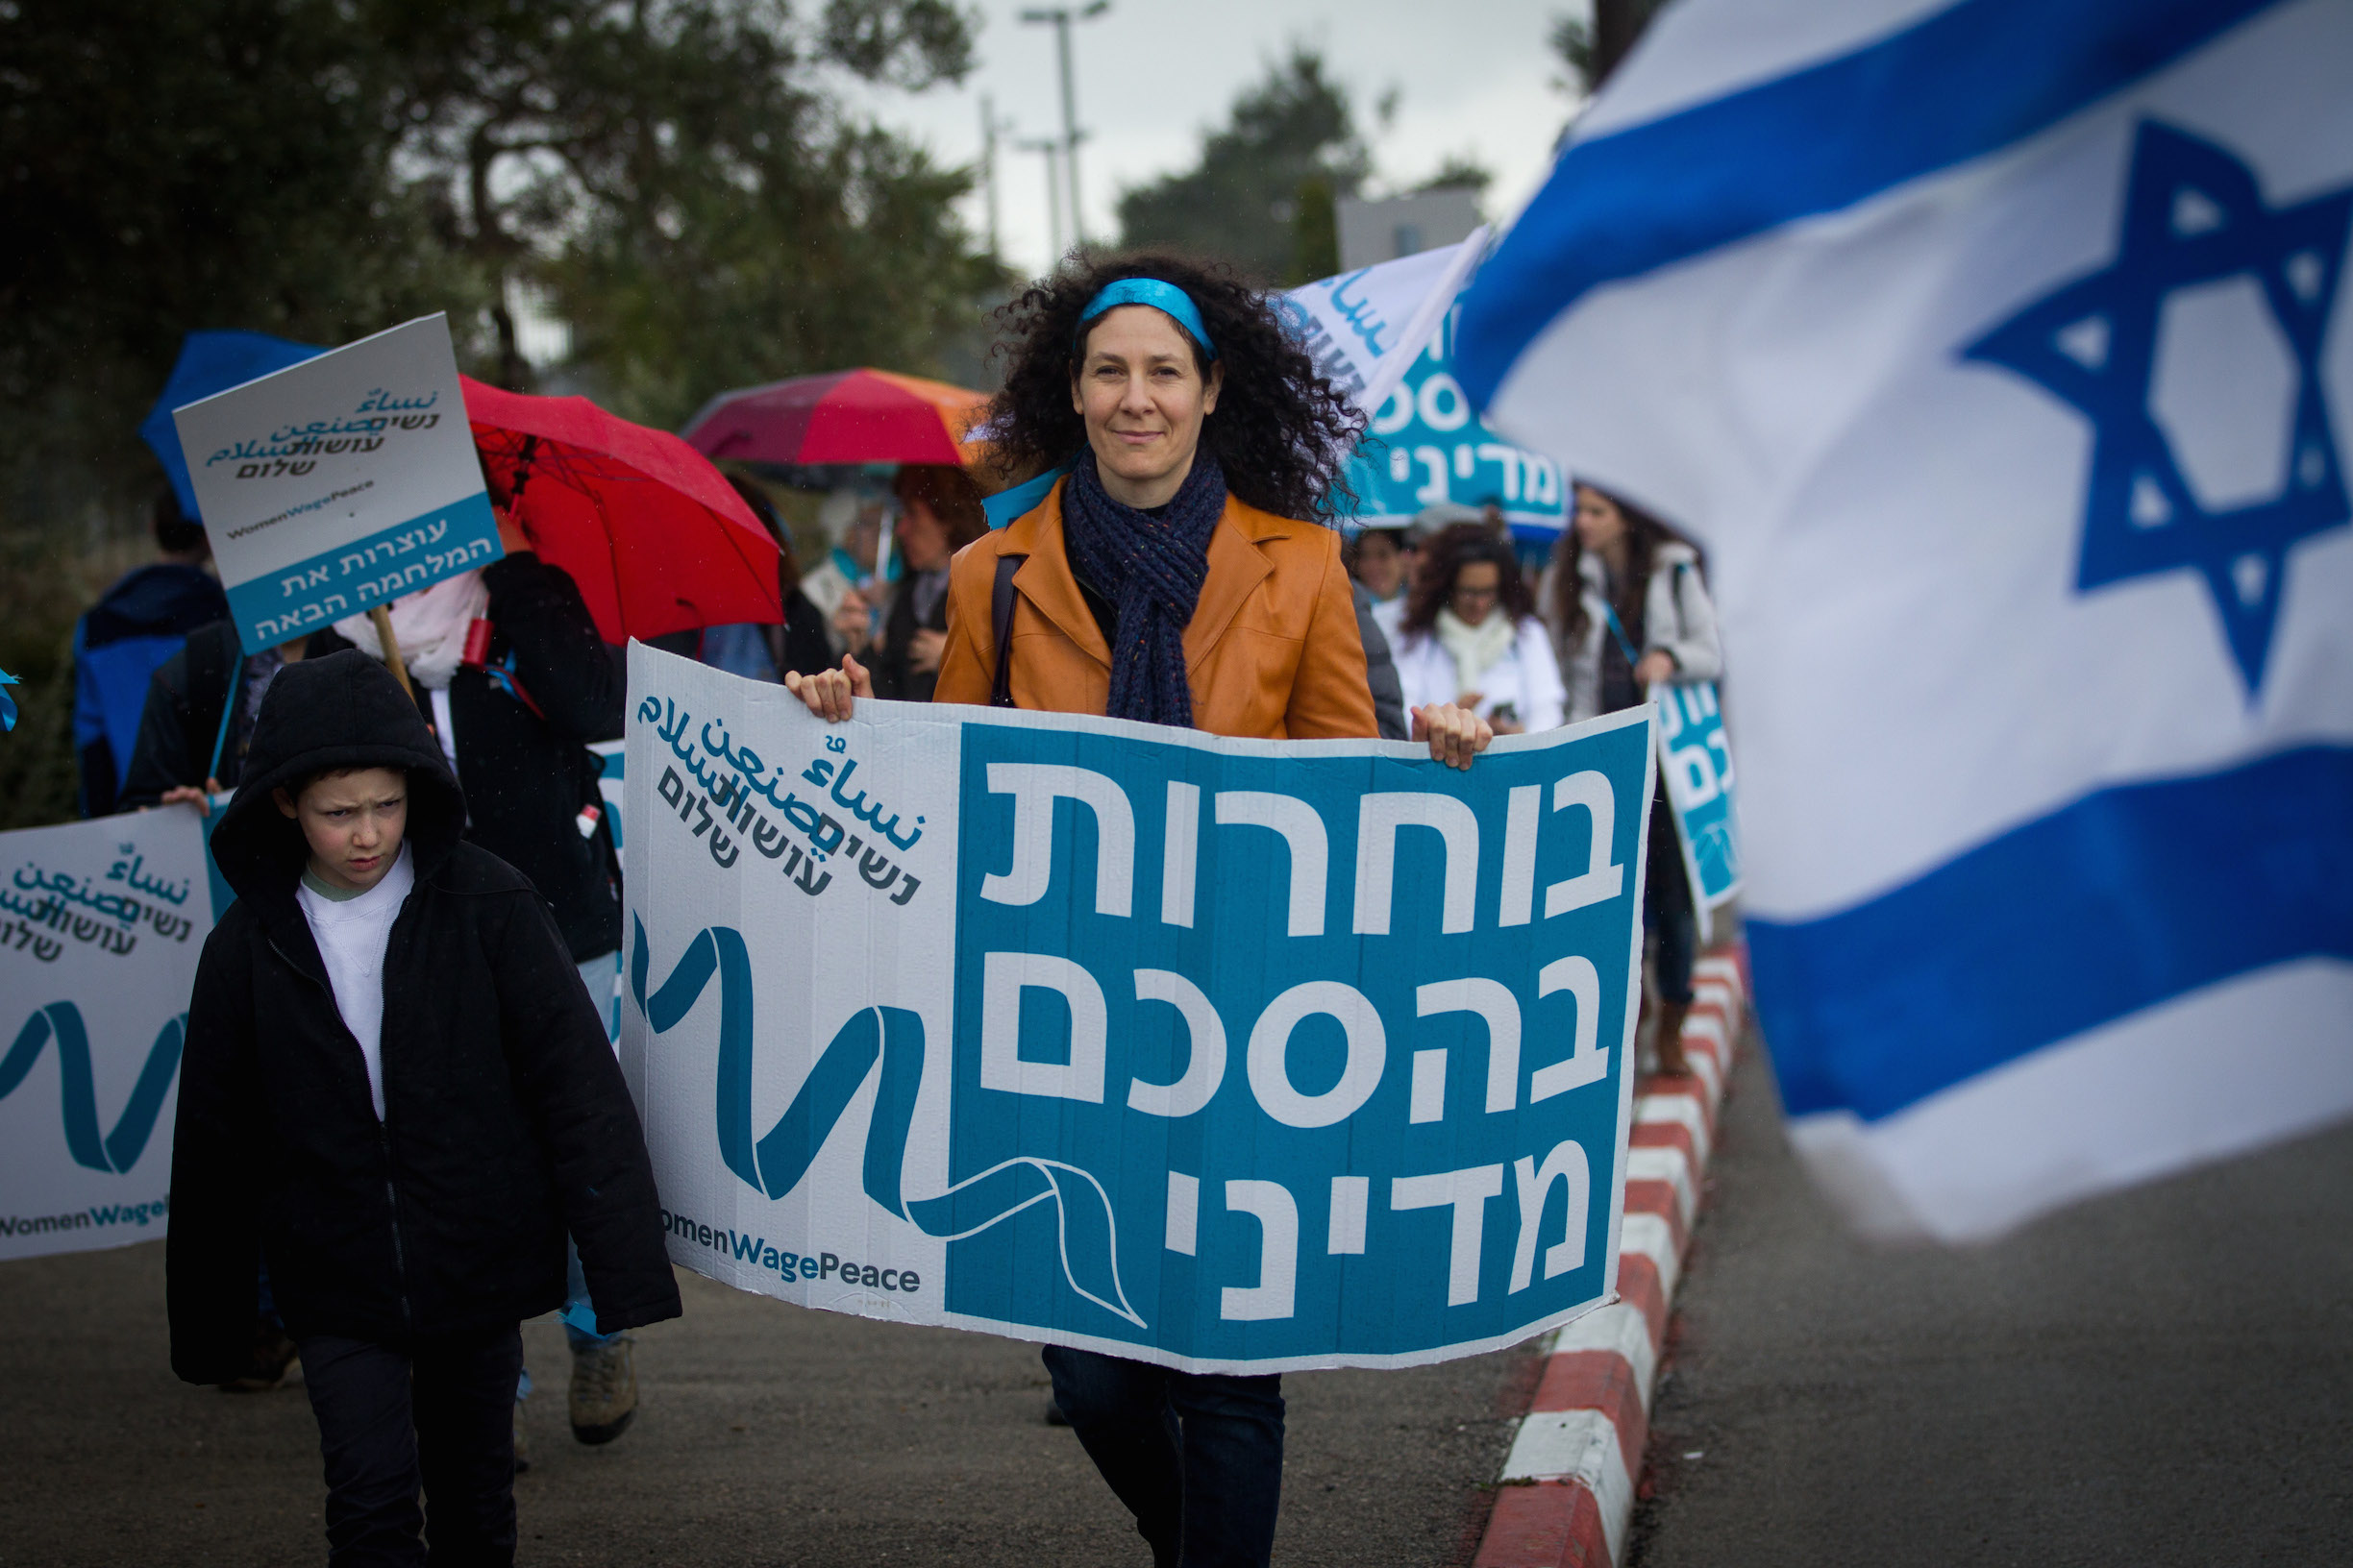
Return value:
M 1788 1112 L 1878 1121 L 2202 985 L 2353 959 L 2353 750 L 2101 790 L 1748 945 Z

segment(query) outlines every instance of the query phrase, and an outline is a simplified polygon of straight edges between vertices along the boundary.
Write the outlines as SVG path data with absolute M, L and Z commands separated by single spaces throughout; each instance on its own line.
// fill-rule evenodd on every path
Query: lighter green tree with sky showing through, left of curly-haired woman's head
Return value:
M 972 24 L 944 0 L 386 5 L 426 61 L 405 153 L 447 190 L 456 244 L 551 284 L 581 371 L 633 418 L 802 369 L 925 367 L 998 282 L 951 209 L 969 172 L 833 89 L 960 80 Z M 492 322 L 520 386 L 504 301 Z

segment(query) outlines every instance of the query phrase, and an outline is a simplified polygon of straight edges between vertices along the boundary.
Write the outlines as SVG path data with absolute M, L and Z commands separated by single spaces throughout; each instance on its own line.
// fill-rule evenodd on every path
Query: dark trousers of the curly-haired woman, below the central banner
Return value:
M 1174 1373 L 1066 1345 L 1045 1347 L 1045 1368 L 1153 1568 L 1266 1568 L 1282 1507 L 1282 1378 Z

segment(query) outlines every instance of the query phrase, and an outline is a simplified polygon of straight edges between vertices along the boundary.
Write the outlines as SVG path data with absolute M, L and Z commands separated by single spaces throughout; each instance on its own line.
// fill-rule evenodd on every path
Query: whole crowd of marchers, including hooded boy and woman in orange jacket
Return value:
M 802 569 L 769 494 L 776 623 L 661 639 L 816 715 L 859 698 L 1092 712 L 1252 738 L 1494 736 L 1713 679 L 1694 552 L 1577 487 L 1541 574 L 1440 508 L 1341 541 L 1360 437 L 1266 299 L 1169 256 L 1068 263 L 1002 315 L 995 477 L 1059 475 L 991 529 L 962 468 L 838 489 Z M 565 1309 L 569 1418 L 638 1403 L 628 1331 L 675 1316 L 659 1201 L 609 1051 L 621 870 L 588 750 L 621 733 L 621 649 L 492 501 L 506 555 L 391 609 L 247 651 L 202 531 L 78 628 L 87 813 L 193 804 L 238 900 L 205 947 L 172 1175 L 174 1368 L 271 1387 L 299 1356 L 334 1563 L 511 1561 L 518 1324 Z M 1680 1072 L 1694 919 L 1649 830 L 1659 1065 Z M 1160 1566 L 1266 1563 L 1275 1375 L 1047 1347 L 1056 1410 Z M 424 1493 L 431 1514 L 419 1507 Z

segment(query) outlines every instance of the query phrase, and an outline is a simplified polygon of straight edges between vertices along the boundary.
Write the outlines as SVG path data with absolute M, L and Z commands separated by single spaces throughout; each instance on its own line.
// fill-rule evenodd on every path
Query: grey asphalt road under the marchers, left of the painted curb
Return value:
M 640 1333 L 645 1406 L 609 1448 L 567 1432 L 562 1331 L 525 1328 L 525 1563 L 1151 1563 L 1045 1425 L 1033 1345 L 680 1286 L 687 1316 Z M 325 1559 L 308 1401 L 172 1378 L 160 1244 L 0 1262 L 0 1563 Z M 1468 1563 L 1534 1375 L 1515 1349 L 1285 1378 L 1275 1559 Z

